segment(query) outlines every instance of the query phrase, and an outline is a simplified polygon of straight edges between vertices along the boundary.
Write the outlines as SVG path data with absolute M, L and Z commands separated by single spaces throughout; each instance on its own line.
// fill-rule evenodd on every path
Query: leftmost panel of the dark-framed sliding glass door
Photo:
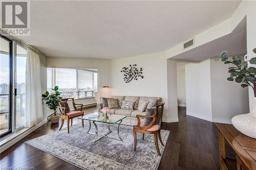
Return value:
M 12 132 L 12 41 L 0 37 L 0 136 Z

